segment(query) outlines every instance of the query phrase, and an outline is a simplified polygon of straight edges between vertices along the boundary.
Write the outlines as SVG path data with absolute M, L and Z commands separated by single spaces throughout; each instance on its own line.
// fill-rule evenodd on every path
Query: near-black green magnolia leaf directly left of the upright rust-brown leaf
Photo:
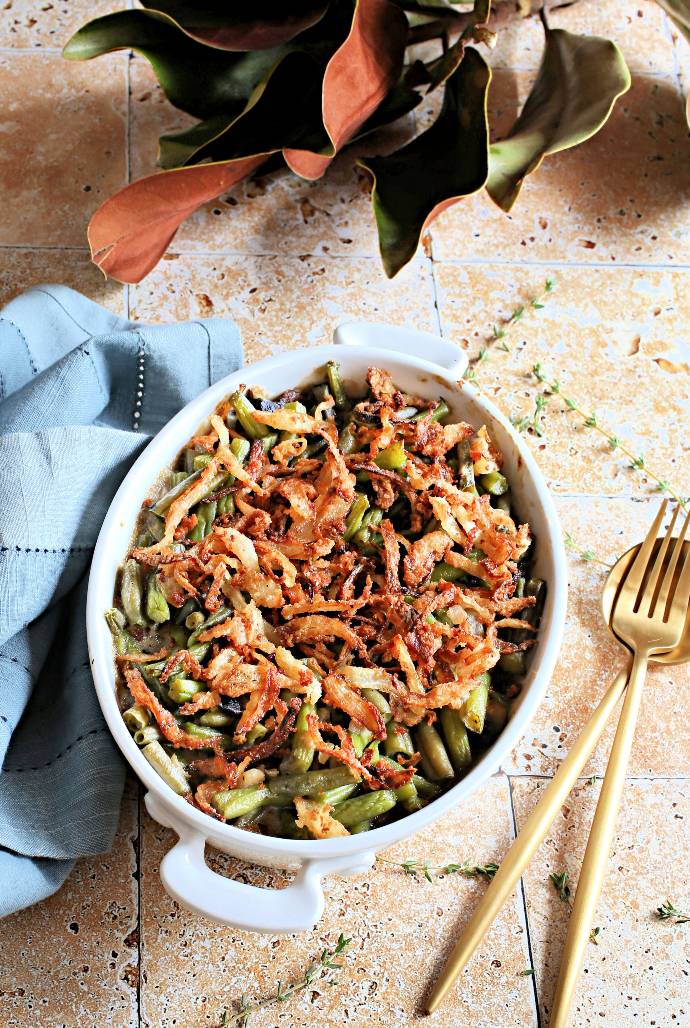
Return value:
M 216 117 L 174 136 L 161 136 L 160 161 L 171 167 L 264 153 L 313 138 L 320 124 L 318 66 L 307 53 L 295 51 L 271 69 L 229 123 L 227 118 Z

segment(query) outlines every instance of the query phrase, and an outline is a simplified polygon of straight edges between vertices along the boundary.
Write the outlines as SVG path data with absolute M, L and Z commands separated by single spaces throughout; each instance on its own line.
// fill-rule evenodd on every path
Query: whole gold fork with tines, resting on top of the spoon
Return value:
M 684 557 L 678 578 L 676 572 L 683 552 L 683 541 L 688 530 L 690 513 L 676 540 L 663 577 L 664 562 L 679 508 L 674 512 L 666 535 L 652 562 L 654 544 L 666 506 L 667 502 L 664 501 L 623 580 L 613 609 L 611 625 L 616 635 L 632 650 L 632 667 L 582 861 L 553 997 L 550 1028 L 566 1028 L 584 962 L 585 949 L 611 852 L 649 657 L 651 654 L 671 650 L 678 646 L 685 626 L 690 601 L 690 551 Z

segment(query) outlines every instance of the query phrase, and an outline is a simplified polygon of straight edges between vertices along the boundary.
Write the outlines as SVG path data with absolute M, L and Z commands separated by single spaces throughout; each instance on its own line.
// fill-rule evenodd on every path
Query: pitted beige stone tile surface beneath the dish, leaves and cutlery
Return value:
M 551 24 L 610 34 L 633 88 L 603 133 L 549 158 L 512 214 L 472 197 L 433 226 L 393 282 L 378 264 L 363 179 L 346 153 L 321 182 L 259 176 L 208 205 L 137 287 L 106 283 L 88 261 L 85 224 L 105 196 L 155 168 L 159 133 L 184 124 L 147 65 L 116 54 L 64 63 L 59 49 L 92 15 L 123 6 L 7 0 L 0 10 L 0 304 L 40 282 L 64 282 L 120 314 L 156 321 L 234 318 L 248 360 L 325 341 L 346 318 L 441 331 L 477 357 L 494 324 L 555 281 L 543 310 L 491 348 L 479 384 L 509 416 L 532 418 L 540 362 L 564 393 L 644 452 L 690 493 L 690 164 L 682 88 L 690 46 L 651 0 L 564 8 Z M 492 57 L 495 131 L 515 117 L 539 64 L 540 30 L 503 33 Z M 432 116 L 421 112 L 417 124 Z M 376 145 L 398 145 L 410 131 Z M 129 141 L 129 142 L 128 142 Z M 86 189 L 85 186 L 90 188 Z M 218 212 L 218 213 L 217 213 Z M 615 559 L 649 522 L 658 493 L 557 399 L 529 429 L 562 527 L 596 561 Z M 572 554 L 565 645 L 547 695 L 502 772 L 390 859 L 500 860 L 558 760 L 619 666 L 600 615 L 606 567 Z M 666 898 L 688 908 L 688 675 L 650 676 L 623 813 L 574 1025 L 690 1025 L 689 926 L 654 919 Z M 547 1028 L 568 918 L 548 875 L 577 882 L 612 730 L 447 1005 L 431 1024 Z M 172 835 L 146 814 L 131 780 L 112 853 L 80 861 L 51 900 L 0 923 L 0 1025 L 196 1028 L 218 1023 L 245 992 L 260 997 L 352 935 L 333 988 L 315 986 L 253 1020 L 278 1026 L 420 1023 L 434 972 L 484 887 L 459 875 L 434 884 L 382 865 L 327 882 L 324 920 L 287 939 L 232 932 L 171 901 L 158 877 Z M 220 873 L 280 887 L 280 873 L 210 853 Z M 533 976 L 520 972 L 534 968 Z

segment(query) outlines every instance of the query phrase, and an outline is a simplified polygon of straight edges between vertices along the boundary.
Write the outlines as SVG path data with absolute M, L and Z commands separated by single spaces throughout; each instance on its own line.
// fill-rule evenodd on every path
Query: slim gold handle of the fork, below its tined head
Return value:
M 642 690 L 647 674 L 648 653 L 635 651 L 630 680 L 625 693 L 611 756 L 606 769 L 602 792 L 592 820 L 589 840 L 582 860 L 575 902 L 571 912 L 566 945 L 560 958 L 560 970 L 551 1008 L 550 1028 L 567 1028 L 585 950 L 602 893 L 611 853 L 613 834 L 625 785 L 625 772 L 634 738 Z

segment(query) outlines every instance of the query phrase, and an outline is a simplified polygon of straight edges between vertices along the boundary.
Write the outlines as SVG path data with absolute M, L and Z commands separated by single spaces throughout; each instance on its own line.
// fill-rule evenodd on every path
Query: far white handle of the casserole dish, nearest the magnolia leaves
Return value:
M 333 333 L 333 342 L 348 346 L 366 346 L 373 350 L 391 350 L 410 357 L 421 357 L 456 378 L 467 371 L 467 354 L 449 339 L 431 332 L 420 332 L 402 325 L 384 325 L 378 322 L 343 322 Z

